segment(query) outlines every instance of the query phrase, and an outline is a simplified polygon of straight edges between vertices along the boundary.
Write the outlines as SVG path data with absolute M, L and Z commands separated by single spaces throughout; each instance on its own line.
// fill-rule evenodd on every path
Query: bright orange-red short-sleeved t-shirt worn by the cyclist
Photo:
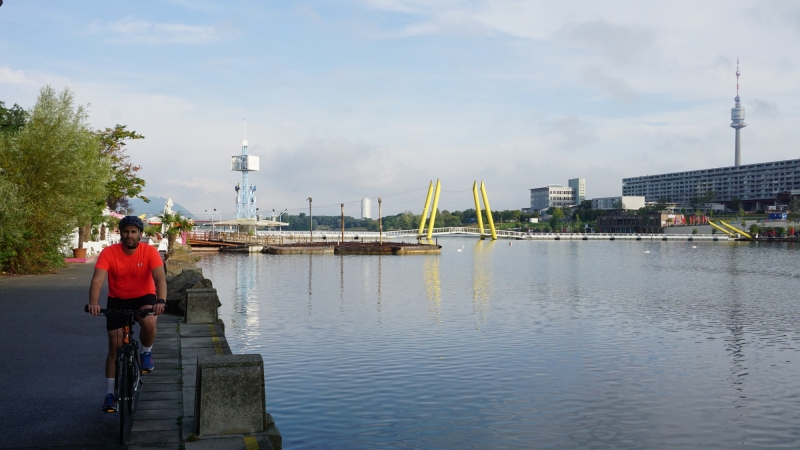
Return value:
M 163 265 L 158 250 L 152 245 L 139 244 L 136 253 L 126 255 L 119 243 L 104 248 L 94 268 L 108 272 L 109 297 L 132 299 L 156 295 L 153 269 Z

